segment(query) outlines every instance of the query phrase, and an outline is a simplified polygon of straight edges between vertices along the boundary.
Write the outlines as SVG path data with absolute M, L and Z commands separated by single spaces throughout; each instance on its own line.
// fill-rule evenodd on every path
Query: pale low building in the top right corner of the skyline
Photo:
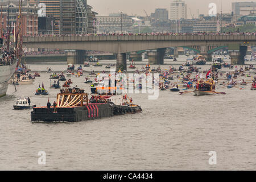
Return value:
M 256 2 L 233 2 L 232 11 L 235 15 L 255 14 Z

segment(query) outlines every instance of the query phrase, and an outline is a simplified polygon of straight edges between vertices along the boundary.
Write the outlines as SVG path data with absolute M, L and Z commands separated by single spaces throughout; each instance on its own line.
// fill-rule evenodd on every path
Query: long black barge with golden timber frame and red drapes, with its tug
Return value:
M 89 101 L 88 94 L 84 93 L 84 90 L 61 89 L 61 93 L 57 94 L 56 108 L 34 107 L 31 121 L 80 122 L 141 111 L 139 105 L 119 106 L 107 98 L 109 97 L 99 96 L 97 100 Z

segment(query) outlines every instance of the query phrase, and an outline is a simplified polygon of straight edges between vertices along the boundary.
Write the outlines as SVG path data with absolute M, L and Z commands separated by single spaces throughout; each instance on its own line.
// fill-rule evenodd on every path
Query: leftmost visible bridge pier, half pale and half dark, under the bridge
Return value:
M 84 64 L 84 50 L 67 50 L 65 51 L 68 64 Z

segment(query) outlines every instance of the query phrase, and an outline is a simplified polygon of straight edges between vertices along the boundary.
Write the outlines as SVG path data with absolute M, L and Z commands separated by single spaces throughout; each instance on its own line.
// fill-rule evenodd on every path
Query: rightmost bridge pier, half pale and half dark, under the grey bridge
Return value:
M 237 49 L 234 47 L 237 47 Z M 229 56 L 231 58 L 231 64 L 244 65 L 246 51 L 247 46 L 229 46 Z

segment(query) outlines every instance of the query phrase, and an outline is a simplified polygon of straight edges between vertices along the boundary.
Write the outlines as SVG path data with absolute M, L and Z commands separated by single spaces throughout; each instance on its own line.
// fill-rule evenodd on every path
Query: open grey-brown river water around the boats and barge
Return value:
M 181 56 L 178 63 L 185 60 Z M 67 64 L 30 65 L 32 71 L 47 67 L 63 71 Z M 201 70 L 209 67 L 204 65 Z M 35 84 L 16 86 L 17 92 L 9 85 L 7 96 L 0 98 L 0 169 L 256 169 L 256 92 L 250 84 L 242 89 L 217 86 L 216 91 L 226 95 L 195 97 L 166 90 L 159 91 L 157 100 L 148 100 L 147 94 L 131 94 L 142 113 L 77 123 L 31 123 L 31 110 L 13 110 L 15 100 L 29 96 L 32 104 L 46 106 L 48 97 L 53 102 L 59 92 L 49 88 L 49 73 L 40 74 Z M 85 77 L 71 79 L 73 85 L 89 92 Z M 49 96 L 34 95 L 42 82 Z M 46 165 L 38 164 L 39 151 L 46 152 Z M 209 165 L 210 151 L 216 151 L 216 165 Z

